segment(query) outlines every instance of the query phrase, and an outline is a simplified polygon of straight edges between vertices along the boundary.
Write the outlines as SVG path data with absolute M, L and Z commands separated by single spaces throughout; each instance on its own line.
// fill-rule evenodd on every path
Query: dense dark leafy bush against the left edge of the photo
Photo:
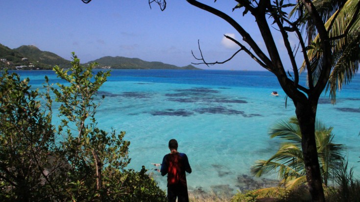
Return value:
M 0 201 L 47 201 L 56 193 L 48 175 L 55 138 L 51 101 L 46 96 L 42 108 L 28 82 L 7 71 L 0 76 Z

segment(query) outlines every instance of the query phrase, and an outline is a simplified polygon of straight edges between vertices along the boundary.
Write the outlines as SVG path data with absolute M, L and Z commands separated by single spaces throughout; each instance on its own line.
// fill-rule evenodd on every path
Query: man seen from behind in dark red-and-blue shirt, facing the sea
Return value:
M 166 154 L 161 164 L 161 175 L 168 174 L 168 202 L 189 202 L 188 185 L 185 171 L 191 173 L 188 156 L 177 151 L 177 141 L 169 141 L 170 153 Z

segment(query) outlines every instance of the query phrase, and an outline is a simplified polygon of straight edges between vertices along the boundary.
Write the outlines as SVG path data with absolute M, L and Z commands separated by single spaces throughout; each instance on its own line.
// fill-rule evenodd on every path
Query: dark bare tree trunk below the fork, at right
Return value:
M 302 150 L 306 169 L 306 178 L 313 202 L 325 202 L 324 190 L 320 174 L 320 166 L 315 142 L 316 104 L 297 102 L 296 116 L 302 134 Z

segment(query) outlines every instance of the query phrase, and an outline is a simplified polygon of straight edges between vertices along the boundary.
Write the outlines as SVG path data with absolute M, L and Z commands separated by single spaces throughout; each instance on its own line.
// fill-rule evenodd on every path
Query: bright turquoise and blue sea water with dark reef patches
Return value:
M 59 82 L 52 71 L 18 71 L 41 88 L 44 76 Z M 98 126 L 126 131 L 131 142 L 128 168 L 142 165 L 166 189 L 166 177 L 151 170 L 169 152 L 175 138 L 188 155 L 189 190 L 230 192 L 253 188 L 276 175 L 253 178 L 250 167 L 277 151 L 279 141 L 267 130 L 275 121 L 293 116 L 294 106 L 276 77 L 256 71 L 113 70 L 101 87 L 105 100 L 98 108 Z M 303 80 L 305 77 L 302 77 Z M 270 93 L 278 91 L 279 97 Z M 337 92 L 331 104 L 320 98 L 317 118 L 333 126 L 334 142 L 344 144 L 350 166 L 360 166 L 360 77 Z M 360 176 L 360 169 L 355 169 Z M 266 179 L 265 179 L 266 178 Z

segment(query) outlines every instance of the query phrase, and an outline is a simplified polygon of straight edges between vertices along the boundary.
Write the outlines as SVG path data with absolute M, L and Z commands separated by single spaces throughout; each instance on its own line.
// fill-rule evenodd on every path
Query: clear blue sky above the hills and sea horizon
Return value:
M 240 40 L 241 36 L 224 20 L 196 8 L 186 0 L 168 0 L 161 11 L 148 0 L 0 0 L 0 44 L 11 49 L 34 45 L 41 51 L 53 52 L 71 60 L 71 52 L 82 63 L 104 56 L 140 58 L 176 66 L 198 63 L 192 55 L 207 62 L 223 61 L 238 47 L 224 39 L 224 34 Z M 256 22 L 243 10 L 232 12 L 236 1 L 202 0 L 233 17 L 265 50 Z M 279 33 L 275 41 L 282 48 Z M 235 46 L 234 46 L 235 45 Z M 286 57 L 285 57 L 286 58 Z M 286 69 L 290 63 L 285 59 Z M 231 61 L 202 69 L 264 70 L 245 52 L 240 51 Z

